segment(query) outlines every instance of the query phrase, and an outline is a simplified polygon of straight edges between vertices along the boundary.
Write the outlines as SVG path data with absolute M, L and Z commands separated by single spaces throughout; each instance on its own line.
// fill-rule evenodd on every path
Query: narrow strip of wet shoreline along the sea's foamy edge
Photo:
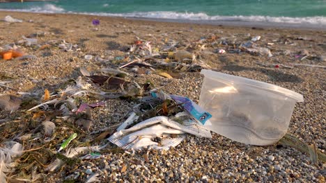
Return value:
M 182 24 L 205 24 L 212 26 L 231 26 L 231 27 L 255 27 L 255 28 L 286 28 L 297 30 L 326 30 L 326 25 L 320 24 L 296 24 L 296 23 L 282 23 L 282 22 L 267 22 L 267 21 L 220 21 L 220 20 L 197 20 L 197 19 L 164 19 L 164 18 L 150 18 L 150 17 L 123 17 L 114 15 L 101 15 L 92 12 L 30 12 L 24 10 L 5 10 L 0 9 L 0 12 L 24 12 L 32 14 L 60 14 L 60 15 L 88 15 L 96 17 L 111 17 L 111 18 L 123 18 L 131 20 L 143 20 L 143 21 L 157 21 L 167 23 L 182 23 Z

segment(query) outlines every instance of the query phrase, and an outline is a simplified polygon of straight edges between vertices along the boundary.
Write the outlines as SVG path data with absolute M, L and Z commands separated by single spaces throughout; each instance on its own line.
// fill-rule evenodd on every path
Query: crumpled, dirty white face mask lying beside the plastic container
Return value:
M 168 149 L 169 147 L 178 146 L 185 139 L 185 133 L 194 134 L 198 137 L 212 138 L 210 131 L 195 121 L 185 120 L 181 124 L 172 121 L 166 116 L 156 116 L 138 123 L 132 126 L 132 128 L 120 130 L 112 134 L 109 137 L 109 141 L 121 148 L 132 148 L 134 150 L 143 147 Z M 171 134 L 177 135 L 171 137 Z M 162 138 L 162 141 L 160 143 L 154 141 L 155 137 Z

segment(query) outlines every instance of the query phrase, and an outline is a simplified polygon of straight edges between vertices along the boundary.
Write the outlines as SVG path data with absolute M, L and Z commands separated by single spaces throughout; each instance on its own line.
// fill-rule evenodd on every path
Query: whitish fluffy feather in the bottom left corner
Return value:
M 0 182 L 6 181 L 6 173 L 10 171 L 10 164 L 14 157 L 22 155 L 22 144 L 15 141 L 8 141 L 0 148 Z

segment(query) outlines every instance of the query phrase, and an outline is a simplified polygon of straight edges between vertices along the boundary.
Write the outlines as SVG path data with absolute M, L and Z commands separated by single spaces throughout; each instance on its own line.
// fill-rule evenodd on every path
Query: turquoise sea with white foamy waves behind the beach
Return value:
M 59 0 L 0 3 L 0 9 L 326 26 L 326 0 Z

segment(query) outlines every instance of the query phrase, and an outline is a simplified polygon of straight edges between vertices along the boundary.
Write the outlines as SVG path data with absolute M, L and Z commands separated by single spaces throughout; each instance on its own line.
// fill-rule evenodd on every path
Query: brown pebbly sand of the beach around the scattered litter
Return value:
M 309 145 L 316 143 L 316 148 L 325 153 L 326 30 L 186 24 L 27 12 L 0 12 L 0 19 L 6 15 L 22 19 L 23 22 L 0 21 L 0 51 L 6 44 L 15 43 L 22 52 L 36 58 L 0 60 L 0 81 L 10 80 L 6 84 L 10 88 L 0 87 L 1 94 L 21 96 L 19 93 L 29 92 L 42 95 L 45 89 L 56 92 L 63 89 L 68 80 L 81 76 L 79 67 L 95 72 L 126 64 L 129 62 L 126 59 L 128 49 L 137 40 L 150 42 L 152 48 L 158 50 L 173 40 L 178 42 L 176 51 L 186 48 L 212 70 L 272 83 L 302 94 L 304 103 L 295 105 L 288 132 Z M 93 19 L 99 19 L 100 24 L 94 26 Z M 258 35 L 261 40 L 255 44 L 268 48 L 271 57 L 238 50 L 240 44 Z M 24 40 L 23 36 L 37 39 L 41 46 L 20 42 Z M 205 42 L 200 43 L 201 39 L 205 39 Z M 52 46 L 63 40 L 76 46 L 72 51 Z M 226 53 L 218 53 L 219 49 L 224 49 Z M 93 58 L 86 60 L 85 55 L 92 55 Z M 154 71 L 147 74 L 146 71 L 135 72 L 132 69 L 123 68 L 123 71 L 130 73 L 129 80 L 139 83 L 150 80 L 169 94 L 187 96 L 199 102 L 203 81 L 199 71 L 180 70 L 176 75 L 171 73 L 173 78 L 165 78 Z M 99 133 L 92 132 L 123 122 L 136 104 L 135 101 L 122 99 L 104 102 L 104 107 L 93 109 L 91 129 L 80 135 L 79 143 L 87 143 L 98 137 Z M 6 121 L 6 125 L 0 126 L 0 142 L 18 136 L 18 131 L 29 132 L 31 125 L 35 126 L 31 114 L 27 114 L 24 107 L 11 114 L 0 111 L 0 119 Z M 8 120 L 11 125 L 8 125 Z M 56 123 L 63 127 L 62 123 L 68 122 Z M 58 131 L 65 138 L 70 132 Z M 45 169 L 55 157 L 38 157 L 36 150 L 33 151 L 36 154 L 22 155 L 17 160 L 20 168 L 16 168 L 20 172 L 13 171 L 7 177 L 11 176 L 13 182 L 19 182 L 19 177 L 32 180 L 32 172 L 36 172 L 40 175 L 36 182 L 86 182 L 92 173 L 100 172 L 102 182 L 325 182 L 325 162 L 313 165 L 309 154 L 295 148 L 277 144 L 249 146 L 219 134 L 212 133 L 212 136 L 212 139 L 204 139 L 189 135 L 180 145 L 168 151 L 133 153 L 117 150 L 110 144 L 102 150 L 99 159 L 79 160 L 53 173 Z M 24 150 L 40 146 L 56 150 L 60 146 L 38 140 L 33 143 L 20 142 Z M 107 140 L 102 139 L 88 143 L 88 146 L 105 143 Z M 35 161 L 31 160 L 32 157 Z M 33 164 L 29 166 L 24 160 Z

